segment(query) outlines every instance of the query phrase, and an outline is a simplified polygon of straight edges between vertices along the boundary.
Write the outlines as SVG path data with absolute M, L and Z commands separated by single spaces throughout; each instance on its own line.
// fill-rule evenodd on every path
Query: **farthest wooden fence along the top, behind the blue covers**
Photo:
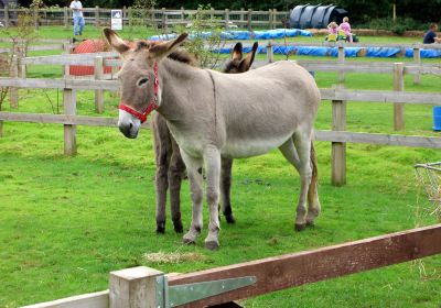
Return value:
M 122 22 L 123 24 L 131 25 L 135 20 L 139 23 L 141 20 L 144 24 L 155 24 L 163 29 L 172 25 L 186 25 L 190 22 L 190 16 L 194 15 L 197 10 L 185 10 L 181 8 L 180 10 L 166 10 L 152 9 L 144 13 L 144 16 L 139 16 L 140 10 L 135 10 L 131 7 L 122 9 Z M 110 25 L 110 11 L 111 9 L 104 9 L 99 7 L 95 8 L 84 8 L 83 13 L 85 22 L 87 24 L 99 25 Z M 35 28 L 39 25 L 51 25 L 58 24 L 65 28 L 72 25 L 72 11 L 67 7 L 64 8 L 51 8 L 51 9 L 11 9 L 4 8 L 0 9 L 0 21 L 3 22 L 4 26 L 11 26 L 17 24 L 18 14 L 30 12 L 33 15 Z M 205 10 L 202 11 L 215 19 L 219 25 L 229 28 L 230 24 L 235 24 L 239 28 L 247 28 L 251 30 L 252 28 L 268 28 L 276 29 L 283 26 L 283 21 L 287 20 L 289 12 L 277 11 L 276 9 L 270 9 L 268 11 L 252 11 L 252 10 Z

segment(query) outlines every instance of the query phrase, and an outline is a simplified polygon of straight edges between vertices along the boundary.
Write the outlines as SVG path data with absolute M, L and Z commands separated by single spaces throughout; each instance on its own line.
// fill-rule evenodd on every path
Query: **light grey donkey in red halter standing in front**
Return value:
M 193 204 L 184 243 L 195 243 L 203 226 L 203 177 L 198 173 L 203 164 L 209 210 L 205 248 L 215 250 L 219 248 L 222 157 L 256 156 L 276 147 L 300 174 L 295 229 L 313 223 L 320 212 L 312 151 L 320 91 L 308 70 L 283 61 L 243 74 L 222 74 L 166 57 L 185 41 L 186 33 L 136 51 L 110 29 L 104 34 L 123 59 L 118 74 L 121 133 L 137 138 L 147 116 L 157 110 L 181 148 Z

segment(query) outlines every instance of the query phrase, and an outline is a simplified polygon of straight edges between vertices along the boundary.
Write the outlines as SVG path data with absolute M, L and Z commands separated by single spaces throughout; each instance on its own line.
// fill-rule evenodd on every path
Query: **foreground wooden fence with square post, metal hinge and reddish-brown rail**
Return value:
M 434 224 L 169 277 L 144 266 L 111 272 L 108 290 L 26 308 L 240 307 L 233 301 L 439 253 L 441 224 Z M 249 283 L 230 287 L 244 278 Z M 222 287 L 216 289 L 216 285 Z

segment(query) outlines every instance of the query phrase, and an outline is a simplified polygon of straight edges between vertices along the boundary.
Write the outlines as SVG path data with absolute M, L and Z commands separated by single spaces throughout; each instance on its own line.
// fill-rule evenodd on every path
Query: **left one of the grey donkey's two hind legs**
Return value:
M 306 197 L 311 184 L 312 168 L 310 163 L 311 138 L 310 133 L 297 132 L 293 135 L 297 153 L 299 155 L 300 194 L 297 206 L 295 230 L 301 231 L 306 227 Z

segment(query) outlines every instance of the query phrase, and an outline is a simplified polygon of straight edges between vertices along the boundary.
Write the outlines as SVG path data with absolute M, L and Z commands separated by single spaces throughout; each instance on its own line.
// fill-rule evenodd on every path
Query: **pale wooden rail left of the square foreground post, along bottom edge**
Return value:
M 53 301 L 46 301 L 22 308 L 108 308 L 109 290 L 83 294 Z

